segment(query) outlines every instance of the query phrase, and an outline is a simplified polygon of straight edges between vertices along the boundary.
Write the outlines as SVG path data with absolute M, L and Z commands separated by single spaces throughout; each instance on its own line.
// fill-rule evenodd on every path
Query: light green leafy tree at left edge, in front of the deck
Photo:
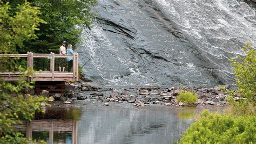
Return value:
M 0 53 L 17 53 L 16 48 L 23 46 L 23 41 L 35 39 L 35 31 L 39 24 L 45 23 L 39 18 L 39 8 L 30 3 L 17 5 L 15 14 L 11 12 L 9 3 L 0 2 Z M 23 71 L 24 75 L 31 70 L 15 65 L 15 59 L 0 57 L 1 71 Z M 4 63 L 4 64 L 3 64 Z M 0 77 L 1 79 L 1 77 Z M 30 89 L 30 82 L 6 82 L 0 80 L 0 143 L 23 143 L 26 139 L 11 125 L 21 124 L 21 119 L 31 120 L 35 111 L 41 111 L 43 97 L 23 96 L 23 91 Z

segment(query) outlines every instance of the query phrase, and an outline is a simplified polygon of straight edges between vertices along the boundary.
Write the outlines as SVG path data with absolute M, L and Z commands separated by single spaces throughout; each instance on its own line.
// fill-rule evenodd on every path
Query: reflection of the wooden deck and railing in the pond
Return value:
M 46 113 L 37 113 L 35 120 L 23 121 L 15 125 L 26 138 L 44 140 L 47 143 L 77 143 L 79 109 L 47 109 Z

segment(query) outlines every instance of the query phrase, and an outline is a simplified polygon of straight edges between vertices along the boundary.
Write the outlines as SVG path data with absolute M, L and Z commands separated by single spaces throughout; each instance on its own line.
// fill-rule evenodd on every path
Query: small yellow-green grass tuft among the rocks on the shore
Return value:
M 183 91 L 178 94 L 178 102 L 183 102 L 186 105 L 194 105 L 197 103 L 197 95 L 191 91 Z

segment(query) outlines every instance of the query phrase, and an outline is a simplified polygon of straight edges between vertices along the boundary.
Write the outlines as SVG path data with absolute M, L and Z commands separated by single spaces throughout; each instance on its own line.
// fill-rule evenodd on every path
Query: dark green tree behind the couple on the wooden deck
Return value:
M 7 2 L 6 0 L 4 2 Z M 38 39 L 28 40 L 25 47 L 19 49 L 19 53 L 31 51 L 33 53 L 59 53 L 59 47 L 65 40 L 75 46 L 80 42 L 80 34 L 84 27 L 92 25 L 93 13 L 91 6 L 97 4 L 97 0 L 82 1 L 51 1 L 51 0 L 30 0 L 33 6 L 41 8 L 40 18 L 46 21 L 39 26 L 40 31 L 36 32 Z M 24 0 L 12 0 L 12 13 L 15 13 L 17 4 L 24 3 Z

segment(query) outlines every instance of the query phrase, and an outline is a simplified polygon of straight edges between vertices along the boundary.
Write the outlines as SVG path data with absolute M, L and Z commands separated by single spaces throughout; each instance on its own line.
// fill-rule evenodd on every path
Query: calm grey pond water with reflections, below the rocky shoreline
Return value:
M 15 126 L 47 143 L 173 143 L 203 110 L 186 107 L 52 109 Z

